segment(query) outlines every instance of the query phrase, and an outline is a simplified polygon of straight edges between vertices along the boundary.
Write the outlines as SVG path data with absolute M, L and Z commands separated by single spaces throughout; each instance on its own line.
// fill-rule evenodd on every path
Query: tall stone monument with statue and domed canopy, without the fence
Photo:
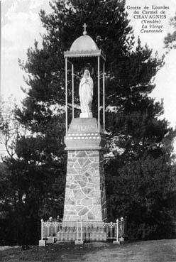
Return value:
M 65 52 L 65 108 L 67 176 L 65 189 L 65 205 L 63 222 L 97 221 L 106 222 L 106 192 L 104 180 L 104 146 L 105 131 L 105 100 L 104 100 L 104 63 L 105 55 L 99 50 L 94 40 L 87 36 L 84 24 L 83 36 L 77 38 L 70 50 Z M 92 60 L 92 58 L 94 58 Z M 79 102 L 81 113 L 74 115 L 74 65 L 77 60 L 97 63 L 97 86 L 89 70 L 84 70 L 79 82 Z M 72 121 L 68 128 L 67 117 L 67 66 L 72 66 Z M 100 72 L 102 75 L 103 92 L 103 128 L 100 123 Z M 92 99 L 94 89 L 98 93 L 97 119 L 92 115 Z

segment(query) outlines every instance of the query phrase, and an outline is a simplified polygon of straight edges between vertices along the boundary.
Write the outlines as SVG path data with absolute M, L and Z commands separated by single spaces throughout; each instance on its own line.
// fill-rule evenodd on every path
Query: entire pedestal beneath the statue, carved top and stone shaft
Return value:
M 63 221 L 106 221 L 104 134 L 97 119 L 73 119 L 65 136 L 67 178 Z

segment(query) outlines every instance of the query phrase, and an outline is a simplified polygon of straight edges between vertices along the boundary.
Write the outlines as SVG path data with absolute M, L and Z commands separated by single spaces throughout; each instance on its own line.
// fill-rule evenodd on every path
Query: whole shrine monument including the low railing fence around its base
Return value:
M 67 150 L 67 175 L 65 189 L 64 216 L 62 222 L 41 219 L 41 240 L 39 246 L 57 241 L 75 241 L 83 244 L 84 241 L 116 240 L 125 234 L 126 219 L 116 219 L 116 222 L 107 222 L 106 192 L 104 179 L 104 151 L 106 144 L 105 131 L 105 87 L 104 64 L 106 57 L 99 50 L 94 40 L 87 36 L 84 24 L 83 36 L 77 38 L 65 56 L 65 145 Z M 82 60 L 97 66 L 97 84 L 86 68 L 79 84 L 76 86 L 79 93 L 81 112 L 75 117 L 75 63 Z M 72 67 L 72 89 L 67 75 Z M 100 77 L 101 76 L 101 77 Z M 100 82 L 101 80 L 101 82 Z M 97 89 L 97 92 L 94 92 Z M 67 94 L 72 94 L 72 121 L 68 128 Z M 100 99 L 100 91 L 103 99 Z M 97 94 L 97 118 L 92 113 L 93 96 Z M 100 110 L 102 109 L 102 118 Z M 102 123 L 100 123 L 100 119 Z M 101 128 L 102 124 L 102 128 Z

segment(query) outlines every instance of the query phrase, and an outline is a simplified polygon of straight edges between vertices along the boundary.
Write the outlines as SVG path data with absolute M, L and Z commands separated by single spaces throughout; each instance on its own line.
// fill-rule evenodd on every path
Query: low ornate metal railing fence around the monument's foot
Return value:
M 99 221 L 43 221 L 41 219 L 41 239 L 54 237 L 57 241 L 119 241 L 126 232 L 126 219 L 116 222 Z

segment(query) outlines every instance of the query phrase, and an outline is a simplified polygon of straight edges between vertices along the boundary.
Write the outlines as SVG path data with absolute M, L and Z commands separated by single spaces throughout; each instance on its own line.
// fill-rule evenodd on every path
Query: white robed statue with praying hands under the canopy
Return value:
M 79 101 L 81 106 L 80 117 L 92 117 L 92 98 L 94 83 L 89 70 L 84 70 L 84 75 L 79 83 Z

